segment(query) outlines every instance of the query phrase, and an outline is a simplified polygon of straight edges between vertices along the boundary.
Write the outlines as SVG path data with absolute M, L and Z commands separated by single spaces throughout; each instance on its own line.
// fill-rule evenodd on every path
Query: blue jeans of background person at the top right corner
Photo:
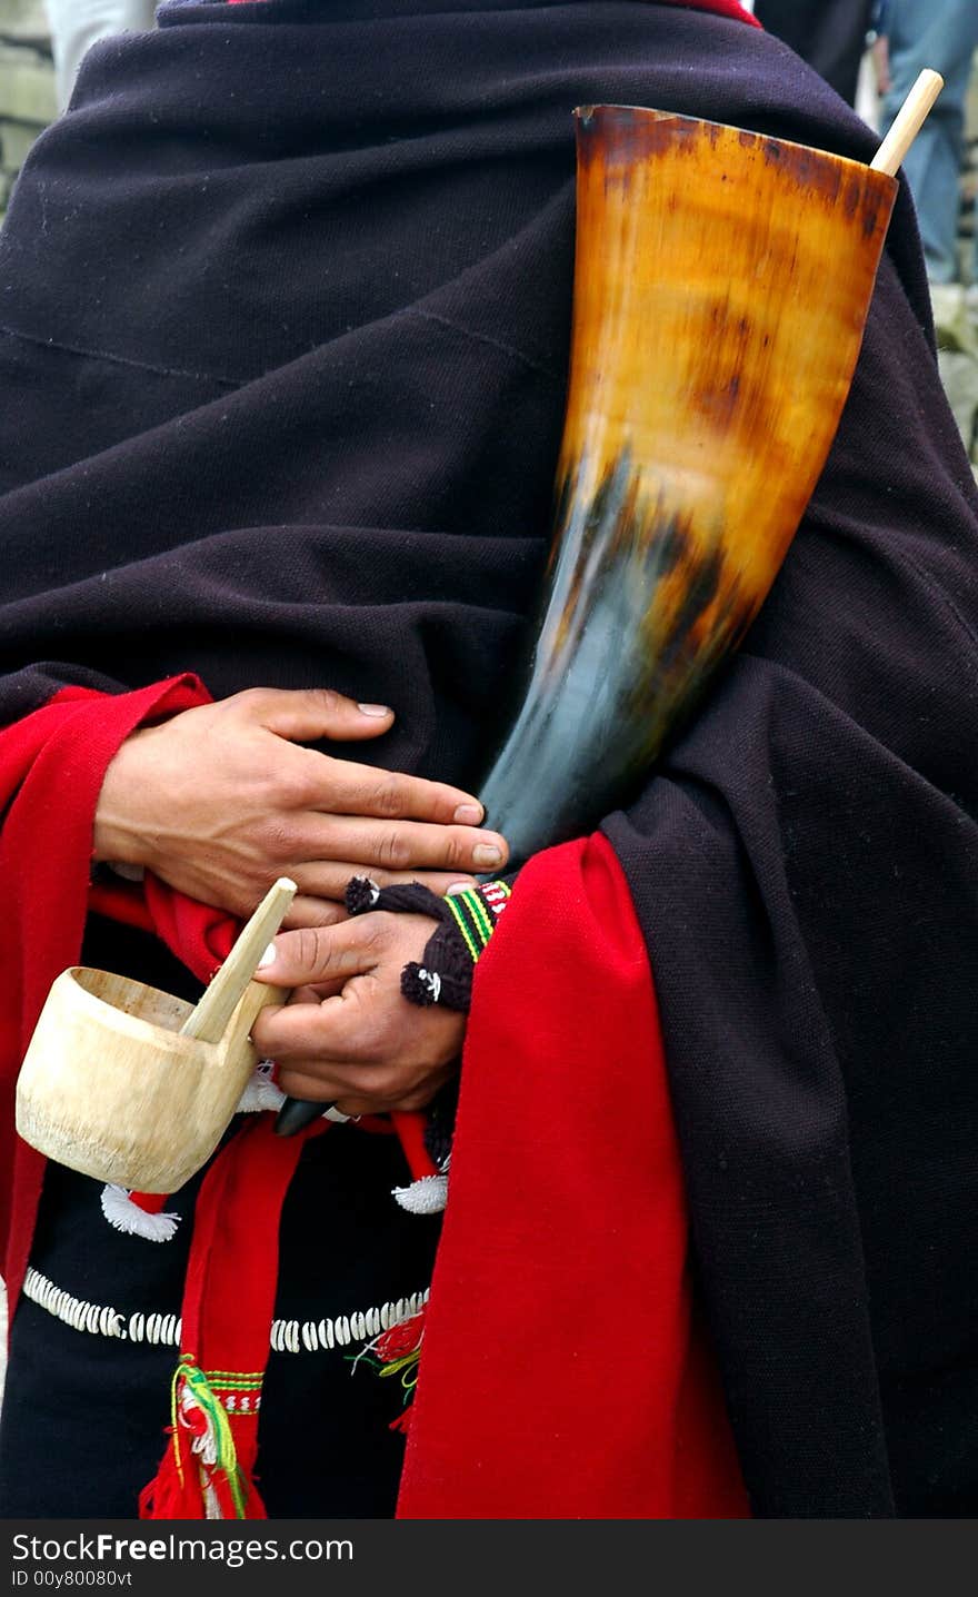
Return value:
M 903 174 L 917 208 L 927 275 L 932 283 L 954 283 L 960 276 L 960 163 L 965 97 L 978 48 L 978 0 L 889 0 L 885 34 L 893 86 L 882 104 L 882 133 L 924 67 L 933 67 L 944 78 L 908 152 Z M 975 267 L 972 276 L 978 278 Z

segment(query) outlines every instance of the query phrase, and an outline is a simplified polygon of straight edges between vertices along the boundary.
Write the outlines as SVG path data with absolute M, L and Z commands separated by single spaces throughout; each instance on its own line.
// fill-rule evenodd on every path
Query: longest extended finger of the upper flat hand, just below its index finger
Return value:
M 306 838 L 308 859 L 341 859 L 354 866 L 351 875 L 369 866 L 391 875 L 407 874 L 408 880 L 418 870 L 455 872 L 453 880 L 458 880 L 459 872 L 477 875 L 482 870 L 499 870 L 509 858 L 509 846 L 499 832 L 471 826 L 426 826 L 421 821 L 373 821 L 359 814 L 324 816 L 317 826 L 308 827 Z M 302 886 L 310 891 L 306 882 Z

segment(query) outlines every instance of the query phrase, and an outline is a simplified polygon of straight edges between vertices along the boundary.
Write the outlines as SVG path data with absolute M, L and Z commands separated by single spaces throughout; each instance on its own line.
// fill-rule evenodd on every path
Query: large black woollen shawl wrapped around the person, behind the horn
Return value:
M 160 24 L 88 57 L 0 238 L 0 715 L 332 684 L 396 706 L 378 762 L 475 781 L 546 549 L 573 107 L 874 141 L 785 46 L 673 6 Z M 783 573 L 606 821 L 758 1514 L 978 1508 L 976 573 L 903 196 Z

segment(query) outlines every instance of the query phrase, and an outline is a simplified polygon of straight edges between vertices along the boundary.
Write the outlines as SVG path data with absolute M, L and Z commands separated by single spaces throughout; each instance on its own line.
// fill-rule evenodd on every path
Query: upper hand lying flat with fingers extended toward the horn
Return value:
M 343 890 L 364 869 L 381 886 L 436 893 L 496 870 L 506 843 L 477 830 L 471 794 L 302 747 L 378 738 L 392 720 L 329 690 L 250 688 L 134 731 L 105 773 L 94 858 L 145 866 L 243 917 L 290 877 L 286 926 L 341 918 Z

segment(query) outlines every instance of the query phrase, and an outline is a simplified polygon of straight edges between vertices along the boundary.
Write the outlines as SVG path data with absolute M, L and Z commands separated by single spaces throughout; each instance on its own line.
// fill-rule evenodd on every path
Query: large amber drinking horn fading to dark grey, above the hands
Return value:
M 761 607 L 842 414 L 897 192 L 718 123 L 574 115 L 554 541 L 480 784 L 515 862 L 622 802 Z

